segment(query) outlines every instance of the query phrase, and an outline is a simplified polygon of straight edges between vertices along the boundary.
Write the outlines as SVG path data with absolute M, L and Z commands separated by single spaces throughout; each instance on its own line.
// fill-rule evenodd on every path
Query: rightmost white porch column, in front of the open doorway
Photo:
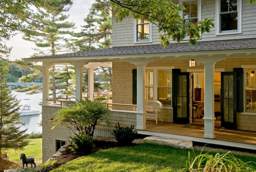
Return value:
M 204 138 L 215 138 L 214 65 L 213 62 L 204 63 Z

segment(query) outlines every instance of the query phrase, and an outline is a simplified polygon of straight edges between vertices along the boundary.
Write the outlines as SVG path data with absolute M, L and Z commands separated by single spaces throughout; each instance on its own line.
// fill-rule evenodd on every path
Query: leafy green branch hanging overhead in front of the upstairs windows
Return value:
M 159 39 L 165 47 L 170 40 L 180 42 L 189 36 L 189 44 L 196 45 L 201 39 L 201 34 L 210 32 L 214 27 L 214 19 L 204 18 L 197 23 L 185 23 L 180 11 L 185 8 L 175 4 L 172 0 L 96 0 L 98 3 L 107 4 L 116 15 L 116 22 L 125 17 L 133 16 L 135 20 L 144 17 L 158 27 Z M 248 0 L 245 0 L 248 1 Z M 250 4 L 256 0 L 250 0 Z M 110 5 L 111 4 L 111 5 Z M 106 6 L 102 6 L 102 8 Z M 102 9 L 103 10 L 103 9 Z

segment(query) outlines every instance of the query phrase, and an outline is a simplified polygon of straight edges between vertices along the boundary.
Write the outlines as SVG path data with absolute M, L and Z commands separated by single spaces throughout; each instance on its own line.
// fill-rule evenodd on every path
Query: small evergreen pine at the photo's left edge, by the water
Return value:
M 28 145 L 24 140 L 27 129 L 20 131 L 20 127 L 16 126 L 21 123 L 17 113 L 20 106 L 19 100 L 6 87 L 8 69 L 9 63 L 0 60 L 0 154 L 6 149 L 22 149 Z

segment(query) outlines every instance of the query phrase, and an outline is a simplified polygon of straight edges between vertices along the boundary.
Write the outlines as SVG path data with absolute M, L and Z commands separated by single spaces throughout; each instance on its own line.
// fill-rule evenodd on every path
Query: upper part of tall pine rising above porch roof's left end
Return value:
M 75 23 L 68 22 L 69 15 L 65 15 L 64 12 L 69 11 L 73 2 L 72 0 L 52 0 L 48 3 L 54 8 L 30 11 L 25 14 L 28 25 L 22 29 L 25 34 L 23 39 L 32 41 L 39 47 L 35 49 L 39 53 L 33 56 L 54 55 L 57 52 L 69 50 L 67 36 L 72 34 L 70 29 L 74 29 Z

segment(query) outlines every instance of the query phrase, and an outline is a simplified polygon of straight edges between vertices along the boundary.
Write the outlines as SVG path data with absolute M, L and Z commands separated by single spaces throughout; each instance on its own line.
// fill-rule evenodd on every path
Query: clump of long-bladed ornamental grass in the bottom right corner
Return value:
M 195 152 L 194 152 L 195 155 Z M 188 172 L 255 172 L 256 168 L 252 164 L 255 162 L 244 162 L 233 156 L 232 153 L 224 154 L 216 153 L 215 155 L 201 153 L 195 155 L 195 158 L 186 161 L 186 169 Z

